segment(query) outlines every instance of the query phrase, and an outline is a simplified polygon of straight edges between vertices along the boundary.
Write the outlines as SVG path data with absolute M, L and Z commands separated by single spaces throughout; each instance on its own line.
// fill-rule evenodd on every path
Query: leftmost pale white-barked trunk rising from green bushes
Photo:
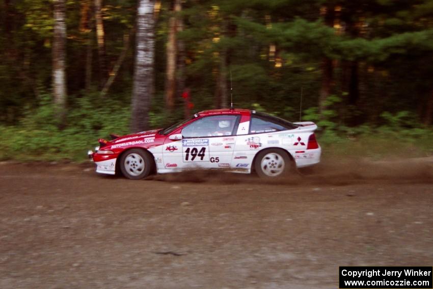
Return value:
M 52 87 L 54 103 L 61 121 L 66 114 L 66 23 L 65 0 L 54 1 L 54 38 L 52 41 Z

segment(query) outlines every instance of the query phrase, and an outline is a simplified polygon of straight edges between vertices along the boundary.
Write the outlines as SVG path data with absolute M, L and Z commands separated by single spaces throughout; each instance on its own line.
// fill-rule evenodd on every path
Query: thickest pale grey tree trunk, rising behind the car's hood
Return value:
M 131 102 L 131 130 L 149 128 L 150 99 L 153 95 L 155 53 L 153 19 L 154 1 L 140 0 L 137 12 L 136 62 Z

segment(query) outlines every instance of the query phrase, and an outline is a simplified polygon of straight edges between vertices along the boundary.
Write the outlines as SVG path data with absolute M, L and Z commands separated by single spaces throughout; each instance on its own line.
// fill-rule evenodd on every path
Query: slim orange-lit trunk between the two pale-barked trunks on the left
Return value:
M 102 0 L 95 0 L 96 40 L 98 44 L 99 86 L 102 88 L 107 78 L 105 56 L 105 34 L 102 22 Z

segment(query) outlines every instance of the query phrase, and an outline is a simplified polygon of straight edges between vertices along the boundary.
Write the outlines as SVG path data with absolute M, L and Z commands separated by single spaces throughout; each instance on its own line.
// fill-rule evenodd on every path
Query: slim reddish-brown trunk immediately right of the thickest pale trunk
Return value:
M 179 0 L 176 0 L 177 2 Z M 176 6 L 176 4 L 175 4 Z M 175 10 L 175 9 L 173 9 Z M 177 23 L 176 15 L 172 15 L 169 20 L 169 35 L 167 42 L 167 65 L 166 65 L 166 95 L 165 102 L 168 112 L 172 112 L 174 108 L 174 99 L 176 93 L 176 32 Z

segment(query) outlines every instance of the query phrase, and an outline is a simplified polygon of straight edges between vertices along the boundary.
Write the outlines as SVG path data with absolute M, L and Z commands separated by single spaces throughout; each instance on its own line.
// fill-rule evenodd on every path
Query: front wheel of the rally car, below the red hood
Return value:
M 127 150 L 122 154 L 119 162 L 122 174 L 130 179 L 147 177 L 154 166 L 151 155 L 138 148 Z

